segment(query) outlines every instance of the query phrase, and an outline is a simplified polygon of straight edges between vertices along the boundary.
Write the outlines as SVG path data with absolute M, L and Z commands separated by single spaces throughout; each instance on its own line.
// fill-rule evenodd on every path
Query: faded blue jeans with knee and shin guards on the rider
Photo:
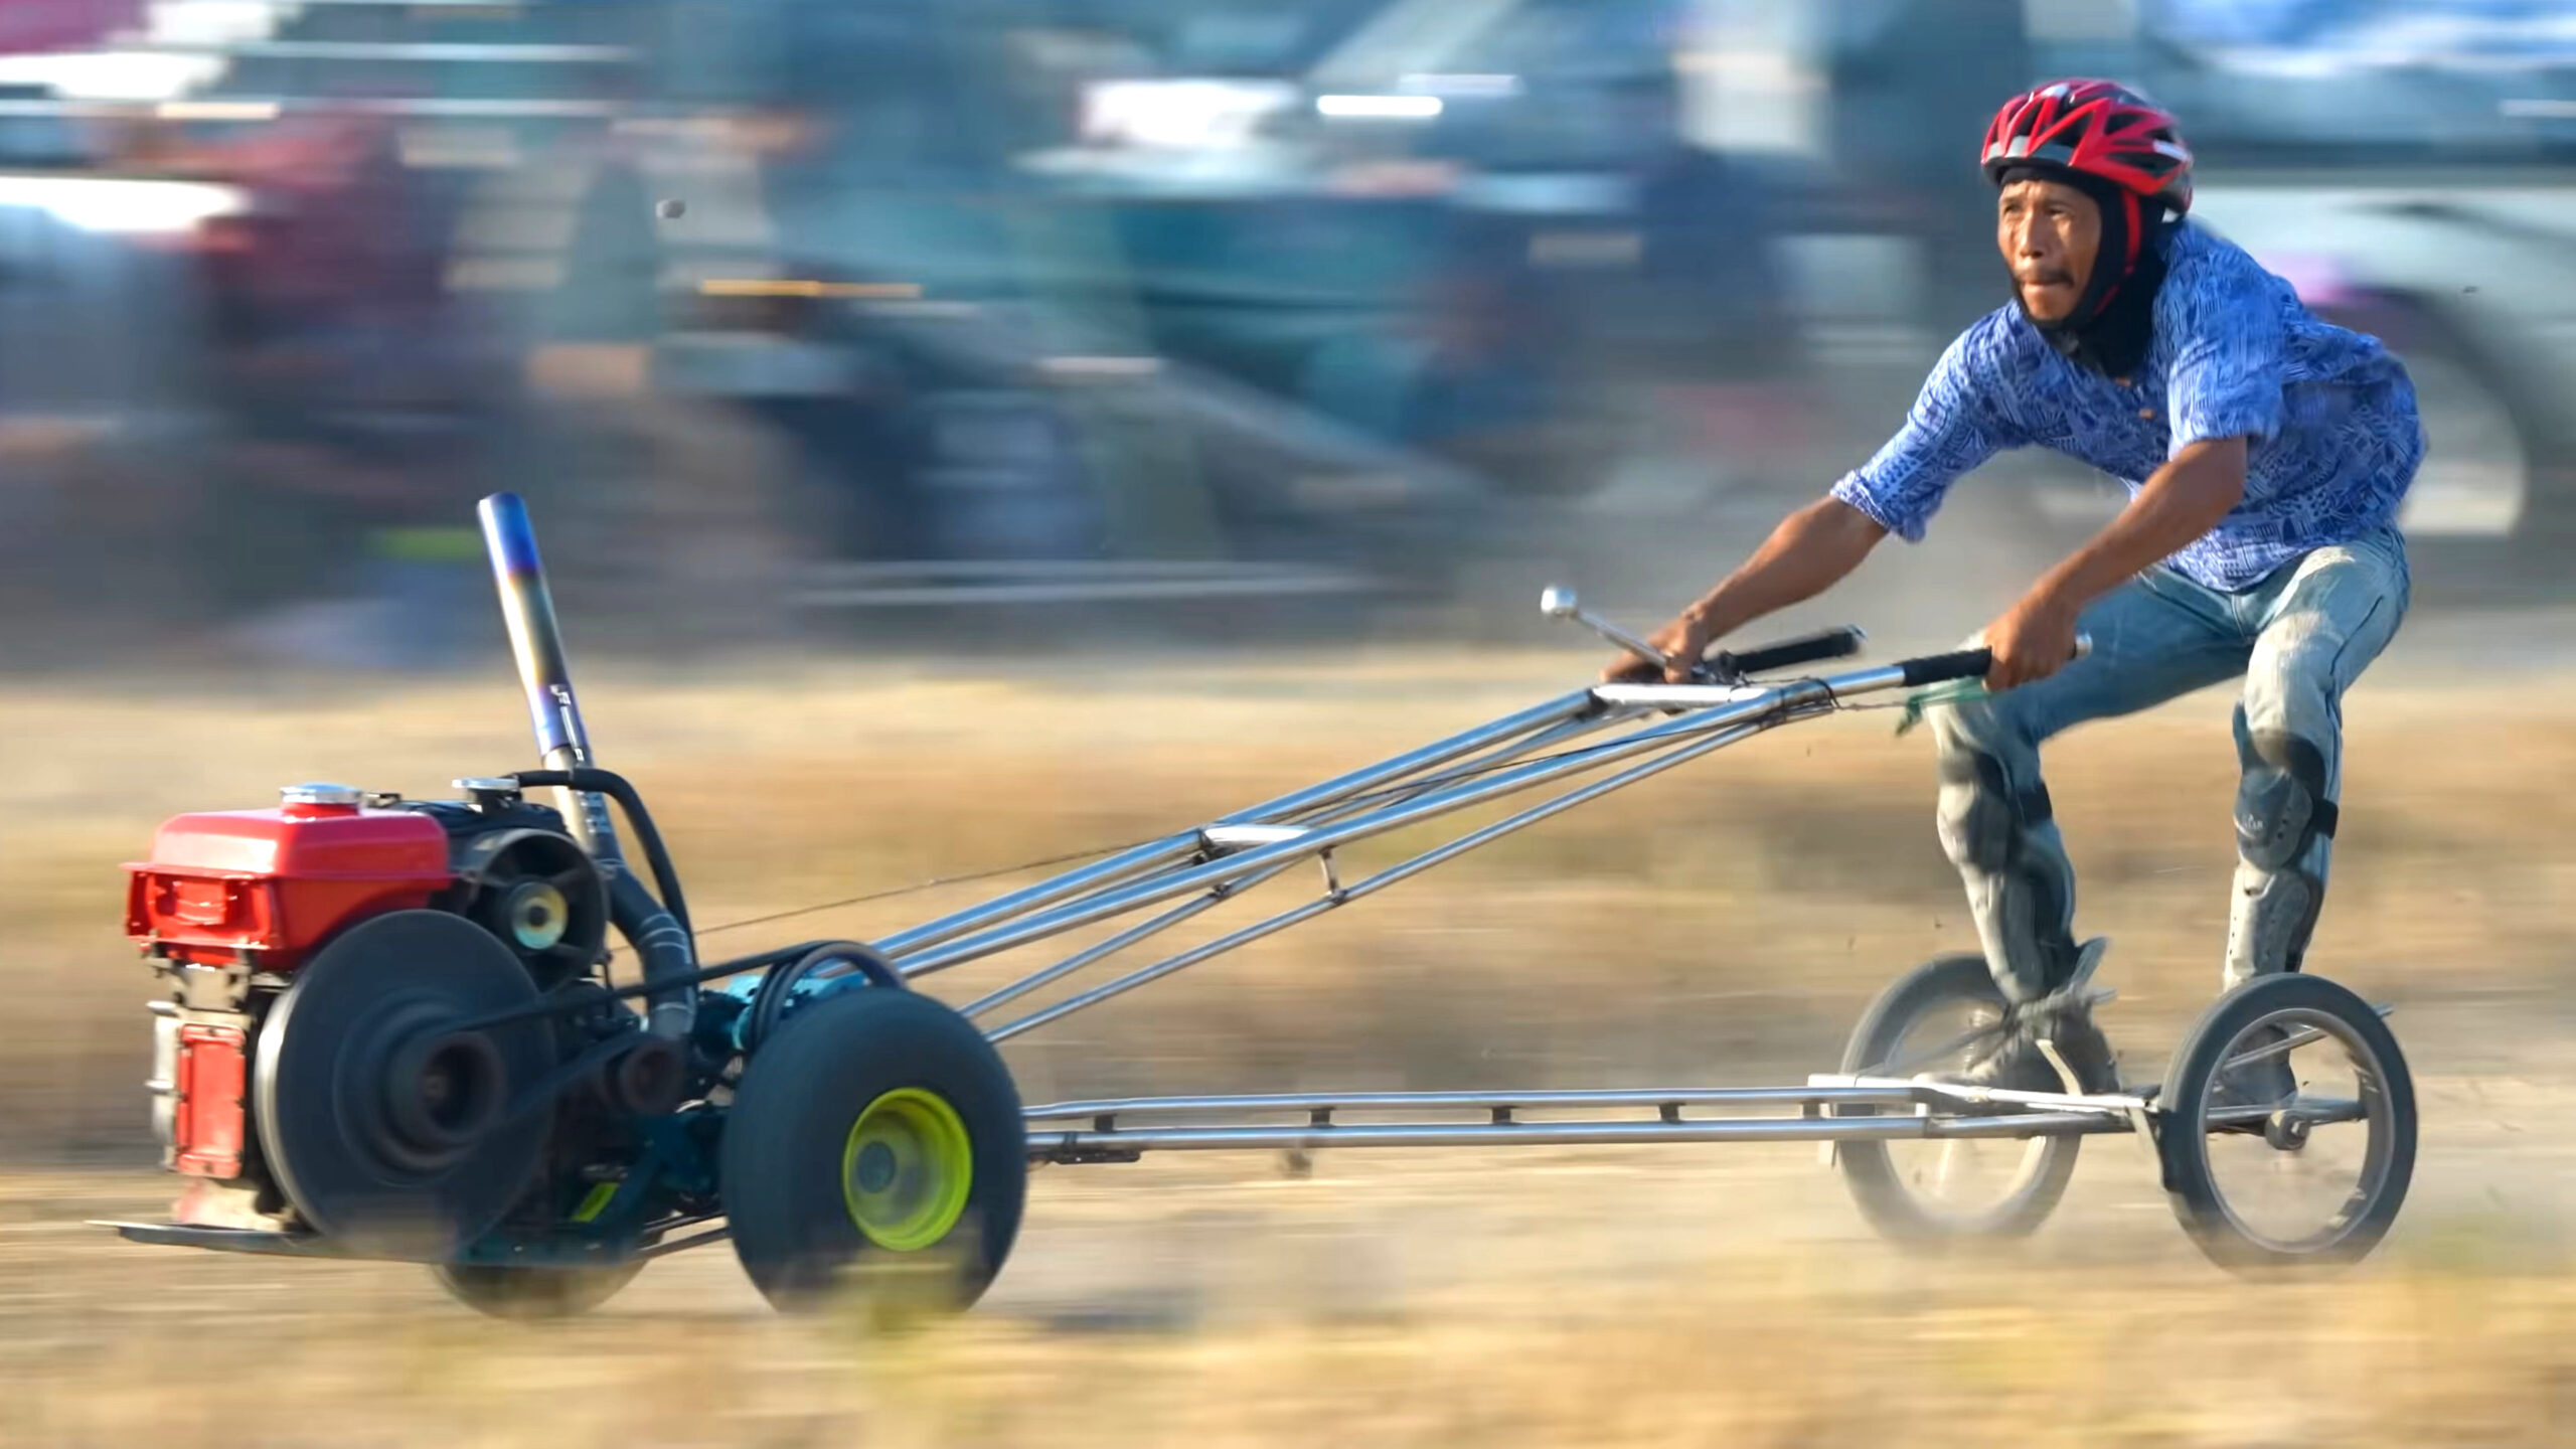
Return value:
M 2411 590 L 2396 529 L 2316 549 L 2244 593 L 2159 565 L 2084 611 L 2087 657 L 1935 709 L 1940 838 L 2004 995 L 2045 995 L 2074 967 L 2074 866 L 2040 781 L 2040 743 L 2231 678 L 2244 678 L 2244 696 L 2223 985 L 2298 969 L 2334 851 L 2344 691 L 2396 637 Z

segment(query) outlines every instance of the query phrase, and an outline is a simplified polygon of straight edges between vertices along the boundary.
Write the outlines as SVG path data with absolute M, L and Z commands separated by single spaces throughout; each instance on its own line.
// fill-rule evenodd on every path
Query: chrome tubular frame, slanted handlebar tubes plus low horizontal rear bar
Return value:
M 1324 864 L 1324 895 L 1188 951 L 1128 969 L 1121 977 L 1002 1026 L 984 1029 L 987 1039 L 1005 1042 L 1195 967 L 1208 957 L 1260 941 L 1301 920 L 1314 920 L 1327 910 L 1376 895 L 1476 846 L 1499 841 L 1587 799 L 1600 799 L 1613 789 L 1749 740 L 1765 730 L 1832 714 L 1847 696 L 1906 688 L 1909 683 L 1914 683 L 1914 668 L 1899 663 L 1759 686 L 1641 683 L 1584 688 L 1311 789 L 1236 810 L 1198 830 L 1126 848 L 1092 866 L 914 926 L 878 941 L 876 949 L 904 977 L 922 977 L 1082 926 L 1164 905 L 1162 913 L 1056 964 L 999 985 L 961 1008 L 966 1016 L 987 1016 L 1149 936 L 1193 920 L 1301 861 Z M 1620 727 L 1625 732 L 1615 732 Z M 1605 732 L 1615 735 L 1574 745 Z M 1340 846 L 1571 781 L 1607 766 L 1620 768 L 1350 884 L 1334 869 L 1334 851 Z M 1795 1114 L 1723 1114 L 1726 1109 L 1762 1106 L 1795 1109 Z M 1685 1109 L 1700 1109 L 1700 1114 L 1685 1116 Z M 1710 1116 L 1710 1109 L 1721 1114 Z M 1561 1119 L 1569 1111 L 1595 1116 Z M 1605 1119 L 1600 1116 L 1602 1111 L 1613 1116 Z M 1535 1147 L 1734 1140 L 2027 1140 L 2143 1132 L 2146 1111 L 2146 1096 L 2027 1093 L 1832 1075 L 1808 1078 L 1803 1088 L 1175 1096 L 1030 1106 L 1028 1155 L 1046 1163 L 1126 1163 L 1149 1150 L 1309 1152 L 1319 1147 Z M 1278 1122 L 1280 1114 L 1296 1114 L 1301 1122 Z M 1399 1114 L 1399 1119 L 1350 1122 L 1337 1114 Z M 1443 1119 L 1443 1114 L 1450 1119 Z M 1481 1119 L 1455 1119 L 1458 1114 L 1481 1114 Z M 1533 1119 L 1528 1114 L 1551 1114 L 1553 1119 Z M 1133 1119 L 1149 1122 L 1136 1124 Z

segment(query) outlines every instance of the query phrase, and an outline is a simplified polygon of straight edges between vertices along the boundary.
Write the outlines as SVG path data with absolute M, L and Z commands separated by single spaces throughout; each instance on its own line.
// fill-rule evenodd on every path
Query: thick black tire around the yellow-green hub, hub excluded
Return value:
M 940 1245 L 886 1253 L 850 1222 L 840 1155 L 858 1111 L 907 1085 L 956 1109 L 974 1183 Z M 927 995 L 860 987 L 796 1011 L 760 1047 L 726 1114 L 721 1173 L 734 1256 L 781 1312 L 824 1310 L 848 1289 L 868 1307 L 956 1312 L 984 1297 L 1020 1232 L 1028 1122 L 971 1021 Z

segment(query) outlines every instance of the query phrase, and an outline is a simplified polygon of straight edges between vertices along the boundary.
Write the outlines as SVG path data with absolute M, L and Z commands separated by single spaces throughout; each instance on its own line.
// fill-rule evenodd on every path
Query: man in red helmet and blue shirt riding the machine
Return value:
M 1883 536 L 1919 541 L 1950 485 L 1996 451 L 2045 446 L 2125 482 L 2123 513 L 1981 632 L 1986 696 L 1935 712 L 1940 838 L 2012 1024 L 1965 1078 L 2030 1085 L 2038 1067 L 2050 1085 L 2045 1039 L 2084 1091 L 2112 1091 L 2110 1047 L 2066 990 L 2074 869 L 2040 743 L 2241 678 L 2223 985 L 2295 972 L 2324 902 L 2342 696 L 2409 606 L 2396 516 L 2424 428 L 2375 338 L 2318 322 L 2290 284 L 2184 219 L 2192 152 L 2143 95 L 2040 85 L 1994 116 L 1981 160 L 2012 304 L 1950 343 L 1870 462 L 1649 642 L 1680 683 L 1710 642 L 1824 593 Z M 1602 678 L 1664 673 L 1623 655 Z M 2272 1055 L 2239 1091 L 2272 1101 L 2295 1083 Z

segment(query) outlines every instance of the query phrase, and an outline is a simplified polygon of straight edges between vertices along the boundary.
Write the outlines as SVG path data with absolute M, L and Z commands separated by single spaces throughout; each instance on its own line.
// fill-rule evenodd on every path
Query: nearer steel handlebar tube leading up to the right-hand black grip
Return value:
M 1736 722 L 1752 719 L 1752 717 L 1765 717 L 1765 714 L 1772 717 L 1772 722 L 1785 722 L 1785 719 L 1793 717 L 1793 712 L 1801 704 L 1819 701 L 1819 699 L 1826 699 L 1826 691 L 1824 691 L 1824 686 L 1814 686 L 1814 683 L 1808 683 L 1808 686 L 1783 686 L 1780 691 L 1765 691 L 1762 696 L 1757 696 L 1752 701 L 1744 701 L 1744 704 L 1736 704 L 1736 706 L 1728 706 L 1728 709 L 1710 709 L 1710 712 L 1705 712 L 1703 717 L 1695 717 L 1695 719 L 1677 719 L 1672 724 L 1656 724 L 1656 727 L 1649 727 L 1649 730 L 1638 730 L 1638 732 L 1625 735 L 1620 740 L 1613 740 L 1613 743 L 1605 743 L 1600 748 L 1584 750 L 1579 758 L 1533 761 L 1533 763 L 1525 763 L 1525 766 L 1515 766 L 1515 768 L 1484 776 L 1481 781 L 1473 781 L 1473 784 L 1458 784 L 1458 786 L 1435 792 L 1430 797 L 1419 797 L 1419 799 L 1412 799 L 1412 802 L 1404 802 L 1404 804 L 1388 804 L 1388 807 L 1373 810 L 1368 815 L 1360 815 L 1360 817 L 1352 817 L 1352 820 L 1342 820 L 1337 825 L 1316 828 L 1314 833 L 1309 833 L 1303 838 L 1296 838 L 1296 841 L 1280 841 L 1275 846 L 1255 846 L 1249 851 L 1239 851 L 1239 853 L 1224 856 L 1218 861 L 1208 861 L 1203 866 L 1190 866 L 1190 869 L 1182 869 L 1182 871 L 1175 871 L 1175 874 L 1167 874 L 1167 877 L 1157 877 L 1157 879 L 1146 879 L 1146 882 L 1139 882 L 1139 884 L 1131 884 L 1131 887 L 1123 887 L 1123 890 L 1103 892 L 1103 895 L 1095 895 L 1095 897 L 1087 897 L 1087 900 L 1079 900 L 1079 902 L 1072 902 L 1072 905 L 1059 905 L 1054 910 L 1043 910 L 1038 915 L 1028 915 L 1028 918 L 1020 918 L 1020 920 L 1007 923 L 1007 926 L 994 926 L 989 931 L 981 931 L 981 933 L 951 941 L 948 946 L 943 946 L 938 951 L 927 951 L 927 954 L 920 954 L 914 959 L 899 959 L 896 969 L 902 969 L 907 977 L 912 977 L 912 975 L 927 975 L 927 972 L 938 972 L 938 969 L 945 969 L 945 967 L 956 967 L 956 964 L 963 964 L 963 962 L 971 962 L 971 959 L 979 959 L 979 957 L 989 957 L 994 951 L 1007 951 L 1012 946 L 1025 946 L 1030 941 L 1043 941 L 1046 936 L 1056 936 L 1056 933 L 1072 931 L 1077 926 L 1090 926 L 1092 920 L 1105 920 L 1110 915 L 1123 915 L 1128 910 L 1136 910 L 1136 908 L 1144 908 L 1144 905 L 1157 905 L 1162 900 L 1172 900 L 1172 897 L 1190 895 L 1190 892 L 1198 892 L 1198 890 L 1208 890 L 1208 887 L 1218 887 L 1218 884 L 1231 884 L 1236 879 L 1260 874 L 1260 871 L 1265 871 L 1265 869 L 1270 869 L 1275 864 L 1301 861 L 1301 859 L 1309 859 L 1309 856 L 1321 856 L 1324 851 L 1332 851 L 1337 846 L 1347 846 L 1352 841 L 1365 841 L 1370 835 L 1386 835 L 1391 830 L 1401 830 L 1406 825 L 1414 825 L 1414 822 L 1422 822 L 1422 820 L 1432 820 L 1437 815 L 1450 815 L 1455 810 L 1484 804 L 1489 799 L 1502 799 L 1507 794 L 1520 794 L 1520 792 L 1533 789 L 1538 784 L 1546 784 L 1551 779 L 1564 779 L 1564 776 L 1571 776 L 1571 773 L 1600 768 L 1605 763 L 1613 763 L 1613 761 L 1620 761 L 1620 758 L 1631 758 L 1631 755 L 1641 755 L 1641 753 L 1649 753 L 1649 750 L 1667 750 L 1669 748 L 1672 755 L 1667 761 L 1656 761 L 1656 763 L 1659 766 L 1680 763 L 1685 758 L 1695 758 L 1695 755 L 1705 753 L 1705 748 L 1713 748 L 1713 745 L 1705 745 L 1705 740 L 1692 740 L 1692 735 L 1713 735 L 1718 730 L 1726 730 L 1728 724 L 1736 724 Z M 1373 773 L 1373 771 L 1363 771 L 1363 773 Z M 1654 773 L 1654 771 L 1646 771 L 1646 773 Z M 1615 779 L 1620 784 L 1631 784 L 1636 779 L 1643 779 L 1643 773 L 1625 771 L 1625 773 L 1620 773 Z M 1592 799 L 1592 794 L 1584 794 L 1582 799 Z M 1484 841 L 1492 841 L 1492 838 L 1494 838 L 1492 833 L 1473 835 L 1476 843 L 1484 843 Z M 878 944 L 878 949 L 886 949 L 886 946 Z

